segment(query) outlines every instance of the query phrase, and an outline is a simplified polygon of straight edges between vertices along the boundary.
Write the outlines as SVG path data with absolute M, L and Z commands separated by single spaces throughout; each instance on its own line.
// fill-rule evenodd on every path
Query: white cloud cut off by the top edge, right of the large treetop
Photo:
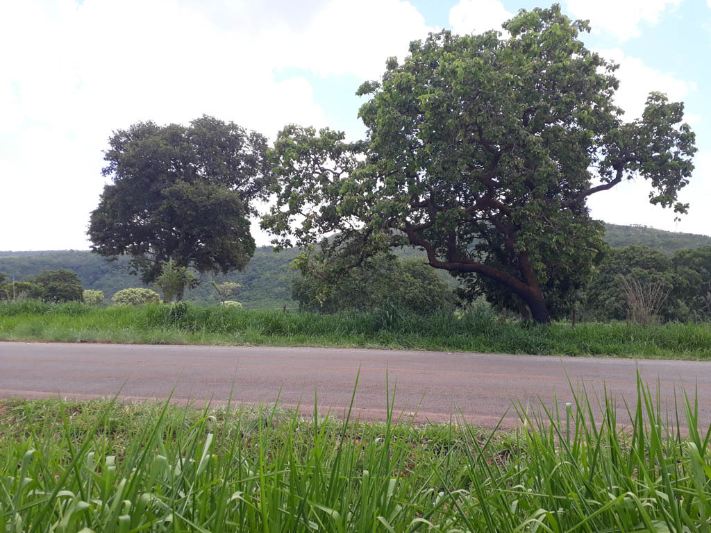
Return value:
M 604 31 L 627 41 L 641 36 L 641 23 L 654 26 L 667 9 L 675 9 L 680 3 L 681 0 L 568 0 L 567 11 L 589 20 L 592 31 Z

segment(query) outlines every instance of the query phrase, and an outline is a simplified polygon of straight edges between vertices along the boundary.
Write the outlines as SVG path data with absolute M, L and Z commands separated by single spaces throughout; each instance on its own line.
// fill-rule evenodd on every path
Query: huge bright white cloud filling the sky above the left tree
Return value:
M 325 126 L 309 80 L 284 72 L 378 77 L 432 29 L 400 0 L 4 2 L 0 249 L 87 246 L 112 130 L 201 114 L 272 138 Z

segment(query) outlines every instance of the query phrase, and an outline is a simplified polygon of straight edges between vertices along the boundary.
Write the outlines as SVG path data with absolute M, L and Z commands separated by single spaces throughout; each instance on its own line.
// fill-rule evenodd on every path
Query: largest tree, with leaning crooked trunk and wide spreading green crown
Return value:
M 695 147 L 683 104 L 653 92 L 642 117 L 624 121 L 617 65 L 584 47 L 587 22 L 557 4 L 503 27 L 508 38 L 442 31 L 413 42 L 404 63 L 388 60 L 382 81 L 359 90 L 370 95 L 365 141 L 287 126 L 272 154 L 277 203 L 262 221 L 274 242 L 337 234 L 324 253 L 338 268 L 419 247 L 431 266 L 483 276 L 547 322 L 547 288 L 561 290 L 550 276 L 576 272 L 574 293 L 602 248 L 590 195 L 640 177 L 651 203 L 685 212 L 677 193 Z

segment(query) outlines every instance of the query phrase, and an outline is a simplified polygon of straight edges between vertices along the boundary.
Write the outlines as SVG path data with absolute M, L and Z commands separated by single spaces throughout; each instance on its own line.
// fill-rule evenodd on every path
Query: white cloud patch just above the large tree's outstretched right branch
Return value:
M 615 101 L 625 110 L 626 120 L 641 117 L 647 95 L 652 91 L 665 92 L 669 99 L 678 101 L 685 99 L 690 92 L 696 90 L 694 82 L 678 80 L 670 74 L 648 67 L 640 58 L 626 55 L 619 48 L 595 51 L 620 65 L 619 70 L 615 72 L 620 80 Z

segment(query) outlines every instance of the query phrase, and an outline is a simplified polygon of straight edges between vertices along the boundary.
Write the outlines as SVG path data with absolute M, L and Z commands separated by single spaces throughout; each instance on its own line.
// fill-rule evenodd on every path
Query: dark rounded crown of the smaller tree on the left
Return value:
M 106 185 L 92 212 L 92 251 L 128 255 L 144 283 L 169 262 L 200 272 L 241 270 L 255 252 L 249 215 L 268 195 L 267 140 L 203 116 L 189 126 L 139 122 L 114 132 Z

